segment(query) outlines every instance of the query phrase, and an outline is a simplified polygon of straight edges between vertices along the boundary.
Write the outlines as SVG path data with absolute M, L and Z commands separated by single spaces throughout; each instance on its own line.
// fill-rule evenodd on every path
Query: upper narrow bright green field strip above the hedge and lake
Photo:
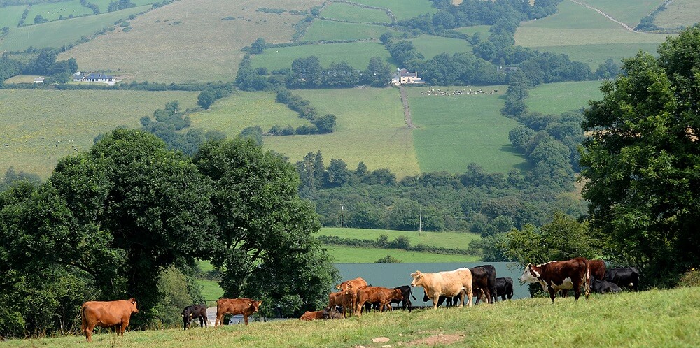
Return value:
M 403 235 L 411 241 L 411 245 L 430 245 L 434 247 L 469 249 L 469 242 L 481 239 L 475 233 L 426 232 L 426 231 L 395 231 L 379 229 L 351 229 L 341 227 L 323 227 L 318 235 L 337 236 L 346 239 L 377 240 L 379 235 L 387 235 L 389 240 L 395 240 Z

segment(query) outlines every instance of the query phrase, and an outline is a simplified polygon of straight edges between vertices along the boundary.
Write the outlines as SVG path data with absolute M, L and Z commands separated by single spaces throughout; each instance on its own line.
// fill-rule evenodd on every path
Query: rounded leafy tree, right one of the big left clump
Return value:
M 295 314 L 321 307 L 338 273 L 313 236 L 321 226 L 297 195 L 294 167 L 243 138 L 204 144 L 195 164 L 213 187 L 210 253 L 224 296 L 268 298 L 267 310 L 283 302 Z

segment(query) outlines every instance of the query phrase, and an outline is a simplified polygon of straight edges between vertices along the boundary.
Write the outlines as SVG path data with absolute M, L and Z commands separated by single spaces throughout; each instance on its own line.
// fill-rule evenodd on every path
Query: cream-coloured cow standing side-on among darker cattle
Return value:
M 472 273 L 469 268 L 458 268 L 437 273 L 422 273 L 416 270 L 411 273 L 412 287 L 423 287 L 428 298 L 433 300 L 433 309 L 437 309 L 440 296 L 459 296 L 462 307 L 465 296 L 469 307 L 472 306 Z

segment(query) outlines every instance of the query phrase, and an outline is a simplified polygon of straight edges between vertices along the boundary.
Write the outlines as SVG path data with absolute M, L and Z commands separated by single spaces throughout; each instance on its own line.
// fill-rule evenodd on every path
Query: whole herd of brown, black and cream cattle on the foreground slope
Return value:
M 416 300 L 411 287 L 423 287 L 423 301 L 432 300 L 433 308 L 446 303 L 447 306 L 472 306 L 472 297 L 493 303 L 500 296 L 501 300 L 513 297 L 513 280 L 510 277 L 496 277 L 496 268 L 491 265 L 474 268 L 458 268 L 456 270 L 423 273 L 419 270 L 411 273 L 411 285 L 385 288 L 372 287 L 361 277 L 346 280 L 336 286 L 337 292 L 330 293 L 328 305 L 323 310 L 307 311 L 301 320 L 340 319 L 348 315 L 362 316 L 362 312 L 375 310 L 384 312 L 391 309 L 392 303 L 401 303 L 404 310 L 413 309 L 411 298 Z M 519 278 L 521 283 L 539 283 L 545 292 L 549 293 L 554 303 L 556 293 L 561 291 L 566 297 L 568 290 L 573 289 L 575 300 L 584 289 L 588 299 L 591 289 L 598 293 L 617 293 L 621 287 L 636 290 L 639 286 L 639 271 L 636 268 L 611 268 L 606 270 L 602 260 L 587 260 L 582 257 L 568 261 L 550 261 L 541 265 L 528 264 Z M 216 321 L 214 326 L 223 325 L 226 314 L 242 314 L 248 325 L 248 317 L 258 312 L 262 301 L 251 298 L 220 298 L 216 301 Z M 92 341 L 92 331 L 95 326 L 114 327 L 118 335 L 124 335 L 129 325 L 132 313 L 138 313 L 137 301 L 90 301 L 80 309 L 82 328 L 87 342 Z M 200 327 L 207 326 L 207 307 L 190 305 L 182 312 L 183 327 L 187 329 L 194 319 L 199 319 Z

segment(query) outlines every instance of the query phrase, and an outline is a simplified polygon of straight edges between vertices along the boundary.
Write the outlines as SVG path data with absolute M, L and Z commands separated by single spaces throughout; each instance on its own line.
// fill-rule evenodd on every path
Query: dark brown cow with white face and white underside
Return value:
M 520 277 L 521 283 L 538 282 L 554 303 L 556 292 L 561 289 L 573 289 L 575 300 L 581 296 L 581 287 L 585 289 L 586 300 L 591 293 L 591 277 L 588 260 L 582 257 L 567 261 L 549 261 L 533 266 L 528 263 Z

